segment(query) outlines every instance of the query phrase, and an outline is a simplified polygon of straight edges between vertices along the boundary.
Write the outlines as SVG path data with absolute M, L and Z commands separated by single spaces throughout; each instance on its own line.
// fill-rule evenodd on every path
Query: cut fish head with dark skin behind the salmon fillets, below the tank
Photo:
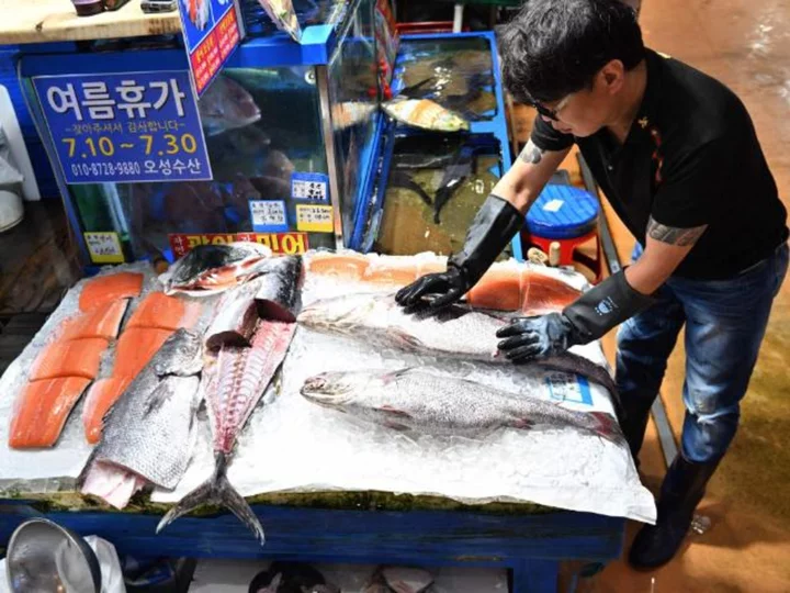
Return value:
M 207 291 L 239 283 L 256 271 L 256 264 L 271 257 L 264 245 L 236 242 L 224 245 L 200 245 L 170 268 L 165 293 Z

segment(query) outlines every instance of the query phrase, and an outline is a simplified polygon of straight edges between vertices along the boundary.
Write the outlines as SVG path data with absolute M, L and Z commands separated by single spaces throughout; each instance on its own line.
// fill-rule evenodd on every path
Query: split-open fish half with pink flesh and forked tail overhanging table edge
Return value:
M 214 474 L 187 494 L 161 518 L 157 533 L 181 515 L 206 503 L 229 508 L 263 545 L 258 517 L 227 479 L 236 439 L 285 358 L 296 324 L 260 322 L 251 347 L 223 347 L 206 380 L 205 402 L 214 446 Z M 204 379 L 205 380 L 205 379 Z

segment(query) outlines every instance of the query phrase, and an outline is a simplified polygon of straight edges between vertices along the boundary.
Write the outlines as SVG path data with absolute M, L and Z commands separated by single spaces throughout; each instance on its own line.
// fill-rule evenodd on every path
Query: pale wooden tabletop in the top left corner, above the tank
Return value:
M 77 16 L 68 0 L 0 0 L 0 44 L 140 37 L 181 31 L 178 12 L 146 14 L 140 0 L 93 16 Z

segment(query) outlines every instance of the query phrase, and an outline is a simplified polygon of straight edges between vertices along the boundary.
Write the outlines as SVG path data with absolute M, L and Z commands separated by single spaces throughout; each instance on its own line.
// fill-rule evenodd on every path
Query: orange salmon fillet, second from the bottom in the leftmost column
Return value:
M 30 380 L 57 379 L 59 377 L 82 377 L 94 379 L 108 340 L 83 338 L 56 342 L 46 346 L 31 367 Z

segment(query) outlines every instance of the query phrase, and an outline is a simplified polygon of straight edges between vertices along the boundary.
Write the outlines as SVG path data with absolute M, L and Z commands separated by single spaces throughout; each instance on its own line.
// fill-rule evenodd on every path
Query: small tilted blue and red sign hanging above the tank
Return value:
M 179 2 L 184 45 L 198 96 L 203 94 L 241 41 L 235 0 Z

